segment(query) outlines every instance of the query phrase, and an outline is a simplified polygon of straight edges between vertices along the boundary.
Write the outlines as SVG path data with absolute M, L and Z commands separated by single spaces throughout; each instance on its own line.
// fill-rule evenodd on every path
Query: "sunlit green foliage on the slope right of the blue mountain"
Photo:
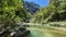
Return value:
M 66 0 L 50 0 L 50 4 L 46 8 L 41 8 L 31 22 L 46 23 L 55 21 L 66 20 Z

